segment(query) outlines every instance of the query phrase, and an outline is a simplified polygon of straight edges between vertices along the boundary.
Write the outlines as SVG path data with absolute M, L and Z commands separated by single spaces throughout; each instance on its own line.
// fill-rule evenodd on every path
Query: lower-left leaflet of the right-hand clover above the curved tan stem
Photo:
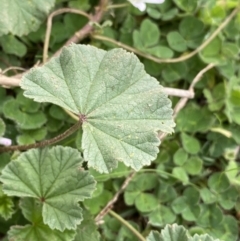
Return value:
M 167 35 L 167 41 L 169 46 L 178 52 L 184 52 L 187 50 L 187 44 L 182 35 L 177 31 L 172 31 Z

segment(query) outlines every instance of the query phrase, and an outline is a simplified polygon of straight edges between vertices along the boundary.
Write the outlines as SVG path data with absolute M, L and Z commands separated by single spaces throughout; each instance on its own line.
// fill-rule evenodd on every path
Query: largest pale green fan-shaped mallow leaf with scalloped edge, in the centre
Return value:
M 32 69 L 21 86 L 25 96 L 81 117 L 84 159 L 99 172 L 110 172 L 118 161 L 135 170 L 149 165 L 159 151 L 157 131 L 173 131 L 162 87 L 135 55 L 121 49 L 72 44 Z

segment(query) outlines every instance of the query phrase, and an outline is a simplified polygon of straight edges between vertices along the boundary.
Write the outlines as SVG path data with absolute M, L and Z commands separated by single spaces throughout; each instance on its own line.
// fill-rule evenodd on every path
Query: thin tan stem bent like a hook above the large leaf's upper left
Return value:
M 52 19 L 53 19 L 53 17 L 55 17 L 59 14 L 63 14 L 63 13 L 80 14 L 80 15 L 88 18 L 89 20 L 91 19 L 91 16 L 89 14 L 85 13 L 84 11 L 72 9 L 72 8 L 61 8 L 61 9 L 58 9 L 58 10 L 52 12 L 48 16 L 48 20 L 47 20 L 47 29 L 46 29 L 45 41 L 44 41 L 44 47 L 43 47 L 43 63 L 46 63 L 47 58 L 48 58 L 48 46 L 49 46 L 50 35 L 51 35 L 51 30 L 52 30 Z

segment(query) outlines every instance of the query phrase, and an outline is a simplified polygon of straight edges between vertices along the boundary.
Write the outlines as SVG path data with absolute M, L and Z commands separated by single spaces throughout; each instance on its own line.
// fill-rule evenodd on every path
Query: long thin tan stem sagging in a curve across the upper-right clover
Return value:
M 102 36 L 102 35 L 97 35 L 97 34 L 93 34 L 92 37 L 94 39 L 98 39 L 98 40 L 101 40 L 101 41 L 107 41 L 107 42 L 110 42 L 110 43 L 113 43 L 115 45 L 117 45 L 118 47 L 121 47 L 121 48 L 124 48 L 128 51 L 131 51 L 139 56 L 142 56 L 146 59 L 150 59 L 156 63 L 177 63 L 177 62 L 182 62 L 184 60 L 187 60 L 191 57 L 193 57 L 194 55 L 196 55 L 197 53 L 199 53 L 201 50 L 203 50 L 221 31 L 223 28 L 225 28 L 225 26 L 232 20 L 232 18 L 239 12 L 240 8 L 235 8 L 232 13 L 221 23 L 221 25 L 212 33 L 212 35 L 207 39 L 205 40 L 205 42 L 203 42 L 198 48 L 196 48 L 194 51 L 192 51 L 191 53 L 189 54 L 186 54 L 186 55 L 183 55 L 183 56 L 180 56 L 178 58 L 173 58 L 173 59 L 160 59 L 160 58 L 157 58 L 157 57 L 154 57 L 150 54 L 146 54 L 140 50 L 137 50 L 135 48 L 132 48 L 126 44 L 123 44 L 119 41 L 116 41 L 114 39 L 111 39 L 111 38 L 108 38 L 108 37 L 105 37 L 105 36 Z

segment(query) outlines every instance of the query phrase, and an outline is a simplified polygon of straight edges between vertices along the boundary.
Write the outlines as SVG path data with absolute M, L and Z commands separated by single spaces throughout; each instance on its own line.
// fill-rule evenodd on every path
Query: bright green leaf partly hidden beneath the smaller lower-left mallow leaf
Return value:
M 65 230 L 60 232 L 52 230 L 42 221 L 42 207 L 40 202 L 32 198 L 24 198 L 20 202 L 20 207 L 27 220 L 32 224 L 25 226 L 12 226 L 8 232 L 11 241 L 71 241 L 75 236 L 75 231 Z

